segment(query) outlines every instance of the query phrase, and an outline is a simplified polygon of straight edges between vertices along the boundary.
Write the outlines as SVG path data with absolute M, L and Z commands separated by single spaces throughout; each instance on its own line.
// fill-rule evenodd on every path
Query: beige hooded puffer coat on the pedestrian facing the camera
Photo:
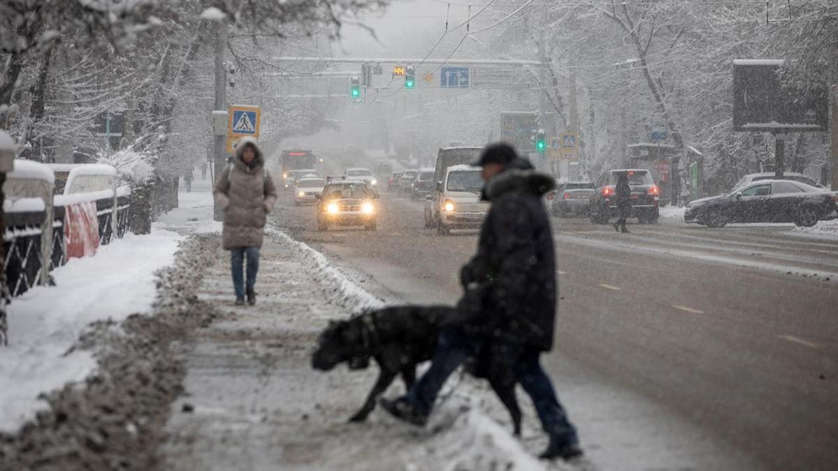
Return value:
M 246 144 L 256 149 L 252 166 L 241 160 Z M 261 247 L 266 215 L 277 203 L 277 188 L 265 169 L 265 158 L 256 139 L 242 137 L 235 146 L 232 169 L 223 168 L 215 180 L 215 201 L 224 209 L 222 241 L 225 249 Z

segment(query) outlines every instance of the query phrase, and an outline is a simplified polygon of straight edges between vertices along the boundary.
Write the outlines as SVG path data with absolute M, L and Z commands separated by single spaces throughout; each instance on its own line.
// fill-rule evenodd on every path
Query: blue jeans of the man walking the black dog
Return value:
M 416 411 L 424 414 L 431 412 L 433 402 L 436 401 L 445 380 L 459 365 L 468 360 L 468 357 L 475 355 L 479 346 L 479 340 L 469 338 L 462 329 L 442 329 L 431 367 L 416 381 L 411 390 L 407 391 L 406 399 L 412 403 Z M 567 419 L 550 378 L 541 368 L 541 351 L 529 347 L 513 347 L 508 351 L 516 352 L 512 354 L 515 357 L 510 359 L 510 363 L 515 369 L 518 383 L 530 396 L 544 431 L 561 443 L 578 443 L 576 427 Z

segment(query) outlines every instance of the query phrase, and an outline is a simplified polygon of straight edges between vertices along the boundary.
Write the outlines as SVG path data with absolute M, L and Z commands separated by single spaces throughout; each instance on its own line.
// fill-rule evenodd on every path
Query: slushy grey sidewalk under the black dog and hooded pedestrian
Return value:
M 310 355 L 329 319 L 382 303 L 361 287 L 366 280 L 273 230 L 262 248 L 259 303 L 235 307 L 227 253 L 218 249 L 216 260 L 199 299 L 222 318 L 184 345 L 185 394 L 169 418 L 166 468 L 569 469 L 535 459 L 537 450 L 510 435 L 507 413 L 488 386 L 468 378 L 424 429 L 380 410 L 369 422 L 347 423 L 377 367 L 322 373 L 312 369 Z M 403 387 L 394 385 L 389 396 Z M 541 448 L 545 443 L 532 439 L 542 434 L 530 422 L 527 448 Z

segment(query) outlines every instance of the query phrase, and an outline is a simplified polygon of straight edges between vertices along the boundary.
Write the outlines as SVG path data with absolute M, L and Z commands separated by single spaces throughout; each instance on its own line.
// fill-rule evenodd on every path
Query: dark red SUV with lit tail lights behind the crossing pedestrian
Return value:
M 644 168 L 619 168 L 600 173 L 594 191 L 588 199 L 591 203 L 591 222 L 604 224 L 608 222 L 608 218 L 617 215 L 614 191 L 617 188 L 617 179 L 621 172 L 629 174 L 629 187 L 631 187 L 631 212 L 629 217 L 637 218 L 640 224 L 657 222 L 660 216 L 658 208 L 660 189 L 658 185 L 654 184 L 649 170 Z

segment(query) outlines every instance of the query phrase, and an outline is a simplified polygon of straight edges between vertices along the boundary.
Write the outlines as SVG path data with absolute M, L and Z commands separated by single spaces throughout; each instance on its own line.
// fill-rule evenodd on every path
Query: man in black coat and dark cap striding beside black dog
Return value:
M 541 352 L 553 344 L 556 318 L 556 262 L 543 194 L 555 180 L 535 172 L 504 143 L 484 149 L 484 199 L 491 201 L 480 230 L 478 251 L 461 272 L 465 292 L 458 303 L 461 320 L 442 329 L 431 367 L 405 396 L 381 400 L 395 417 L 424 425 L 437 393 L 458 365 L 469 357 L 478 363 L 507 365 L 530 396 L 550 444 L 541 458 L 580 456 L 575 427 L 568 421 L 550 378 L 541 368 Z

